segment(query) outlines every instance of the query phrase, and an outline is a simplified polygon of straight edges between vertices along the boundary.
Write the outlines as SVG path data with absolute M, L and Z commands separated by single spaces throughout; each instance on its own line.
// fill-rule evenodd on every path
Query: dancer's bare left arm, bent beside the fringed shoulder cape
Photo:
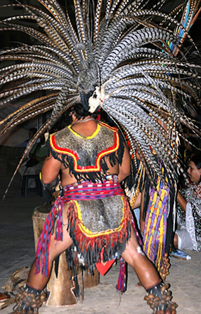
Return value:
M 50 156 L 46 157 L 44 164 L 41 169 L 41 180 L 44 184 L 49 184 L 53 182 L 58 176 L 60 171 L 61 163 L 57 161 L 50 153 Z

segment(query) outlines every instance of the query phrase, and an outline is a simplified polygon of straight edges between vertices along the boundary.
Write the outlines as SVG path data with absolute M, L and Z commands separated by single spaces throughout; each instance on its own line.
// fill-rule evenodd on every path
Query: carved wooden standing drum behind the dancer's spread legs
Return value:
M 39 235 L 42 232 L 44 222 L 48 213 L 51 210 L 52 205 L 39 206 L 34 209 L 34 214 L 32 216 L 33 227 L 34 227 L 34 243 L 35 249 L 37 249 L 37 242 Z M 72 306 L 77 303 L 77 299 L 72 292 L 74 287 L 71 278 L 72 272 L 68 269 L 67 260 L 65 257 L 65 252 L 60 254 L 59 265 L 58 265 L 58 278 L 54 271 L 54 262 L 53 262 L 53 271 L 51 272 L 51 277 L 48 281 L 47 289 L 50 291 L 48 300 L 46 302 L 47 306 Z M 84 299 L 84 288 L 96 287 L 100 282 L 100 273 L 95 270 L 94 276 L 91 276 L 89 271 L 82 271 L 80 269 L 79 274 L 77 275 L 77 280 L 80 288 L 80 301 Z

